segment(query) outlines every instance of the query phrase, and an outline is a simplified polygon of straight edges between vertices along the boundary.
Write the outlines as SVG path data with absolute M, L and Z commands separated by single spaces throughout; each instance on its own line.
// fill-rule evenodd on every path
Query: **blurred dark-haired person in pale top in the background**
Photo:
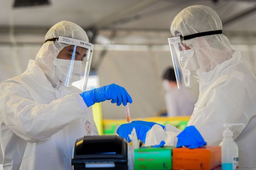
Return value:
M 191 91 L 178 89 L 175 71 L 171 67 L 165 70 L 162 78 L 167 116 L 191 116 L 196 103 Z

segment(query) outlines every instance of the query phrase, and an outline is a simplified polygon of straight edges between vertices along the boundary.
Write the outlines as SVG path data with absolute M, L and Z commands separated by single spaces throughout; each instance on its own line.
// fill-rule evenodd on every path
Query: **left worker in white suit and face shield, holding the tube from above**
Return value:
M 118 106 L 132 102 L 115 84 L 83 92 L 92 50 L 80 26 L 58 22 L 27 70 L 0 84 L 4 170 L 72 169 L 75 140 L 98 135 L 89 106 L 111 99 Z M 80 89 L 71 85 L 78 80 Z

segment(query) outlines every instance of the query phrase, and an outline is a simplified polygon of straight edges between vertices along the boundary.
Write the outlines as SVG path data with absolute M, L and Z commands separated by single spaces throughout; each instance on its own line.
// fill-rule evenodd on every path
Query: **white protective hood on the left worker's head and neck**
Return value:
M 61 21 L 53 25 L 46 33 L 45 40 L 60 36 L 89 42 L 83 28 L 69 21 Z M 58 41 L 47 41 L 42 45 L 36 55 L 36 64 L 42 69 L 54 88 L 58 88 L 61 82 L 57 77 L 53 61 L 59 52 L 68 45 L 69 44 L 58 43 Z

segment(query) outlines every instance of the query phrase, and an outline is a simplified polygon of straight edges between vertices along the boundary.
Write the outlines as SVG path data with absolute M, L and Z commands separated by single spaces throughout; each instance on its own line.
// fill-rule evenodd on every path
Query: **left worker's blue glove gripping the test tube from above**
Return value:
M 100 88 L 85 91 L 81 93 L 80 96 L 83 97 L 83 101 L 88 107 L 94 105 L 94 103 L 100 103 L 105 100 L 111 100 L 111 103 L 117 103 L 117 106 L 120 106 L 122 103 L 126 106 L 127 102 L 133 103 L 131 96 L 125 88 L 116 84 L 105 85 Z

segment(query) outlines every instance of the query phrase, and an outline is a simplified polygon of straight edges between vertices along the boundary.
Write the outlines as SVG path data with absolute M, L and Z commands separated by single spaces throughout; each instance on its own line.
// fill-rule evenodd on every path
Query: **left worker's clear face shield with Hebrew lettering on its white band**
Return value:
M 53 62 L 58 79 L 67 87 L 73 85 L 85 91 L 94 45 L 86 41 L 61 36 L 49 40 L 68 44 L 59 52 Z

